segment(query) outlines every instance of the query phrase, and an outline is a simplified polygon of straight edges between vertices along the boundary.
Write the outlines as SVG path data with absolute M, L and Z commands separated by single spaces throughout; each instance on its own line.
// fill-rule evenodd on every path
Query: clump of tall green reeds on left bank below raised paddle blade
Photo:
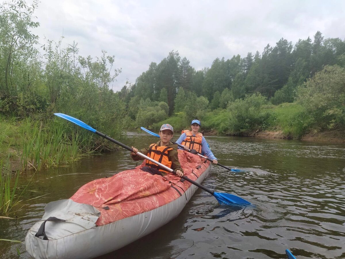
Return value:
M 34 121 L 24 119 L 19 131 L 22 153 L 22 169 L 58 166 L 59 163 L 75 161 L 81 157 L 91 138 L 79 129 L 57 120 Z M 87 152 L 90 152 L 89 150 Z M 83 153 L 87 153 L 83 150 Z

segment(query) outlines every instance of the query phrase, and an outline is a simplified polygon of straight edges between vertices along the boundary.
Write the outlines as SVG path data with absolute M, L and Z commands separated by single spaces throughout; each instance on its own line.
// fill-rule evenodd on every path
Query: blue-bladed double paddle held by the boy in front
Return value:
M 97 135 L 103 137 L 103 138 L 106 138 L 107 140 L 111 141 L 111 142 L 114 142 L 116 144 L 118 144 L 119 146 L 123 147 L 123 148 L 126 148 L 127 150 L 133 152 L 133 148 L 129 147 L 129 146 L 126 146 L 125 144 L 122 144 L 121 142 L 118 142 L 117 140 L 114 140 L 114 138 L 111 138 L 99 131 L 96 131 L 94 128 L 92 128 L 91 126 L 87 125 L 86 123 L 80 121 L 79 119 L 76 119 L 76 118 L 73 118 L 69 115 L 66 115 L 66 114 L 63 114 L 63 113 L 54 113 L 56 116 L 58 117 L 61 117 L 61 118 L 64 118 L 64 119 L 67 119 L 67 121 L 70 121 L 70 122 L 73 122 L 74 124 L 77 124 L 78 126 L 82 127 L 82 128 L 85 128 L 86 130 L 89 130 L 93 133 L 96 133 Z M 139 156 L 151 161 L 152 163 L 155 163 L 159 166 L 161 166 L 163 169 L 171 172 L 171 173 L 174 173 L 176 174 L 176 171 L 175 170 L 172 170 L 171 168 L 161 164 L 161 163 L 158 163 L 156 160 L 153 160 L 151 159 L 150 157 L 138 152 L 137 153 Z M 233 195 L 233 194 L 229 194 L 229 193 L 219 193 L 219 192 L 215 192 L 213 190 L 210 190 L 208 188 L 206 188 L 205 186 L 189 179 L 188 177 L 186 176 L 182 176 L 181 178 L 185 179 L 186 181 L 198 186 L 199 188 L 203 189 L 204 191 L 212 194 L 213 196 L 215 196 L 215 198 L 217 199 L 217 201 L 221 204 L 221 205 L 232 205 L 232 204 L 240 204 L 240 205 L 250 205 L 251 203 L 249 201 L 246 201 L 245 199 L 242 199 L 236 195 Z

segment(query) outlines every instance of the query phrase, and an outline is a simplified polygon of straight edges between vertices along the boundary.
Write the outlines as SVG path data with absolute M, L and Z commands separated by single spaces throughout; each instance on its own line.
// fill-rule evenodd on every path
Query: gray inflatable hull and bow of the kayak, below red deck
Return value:
M 211 165 L 196 182 L 201 183 Z M 115 251 L 146 236 L 176 218 L 196 191 L 191 185 L 178 199 L 159 208 L 103 226 L 96 226 L 100 212 L 88 204 L 72 200 L 50 202 L 42 220 L 36 222 L 25 238 L 28 253 L 36 259 L 87 259 Z M 186 199 L 187 197 L 187 199 Z M 47 221 L 45 233 L 49 240 L 35 237 L 43 221 L 56 217 L 66 221 Z

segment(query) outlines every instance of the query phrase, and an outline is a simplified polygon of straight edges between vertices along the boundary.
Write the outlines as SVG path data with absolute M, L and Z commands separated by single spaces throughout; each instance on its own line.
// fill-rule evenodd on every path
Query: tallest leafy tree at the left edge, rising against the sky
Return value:
M 0 98 L 15 96 L 32 83 L 35 58 L 33 47 L 38 36 L 31 33 L 39 26 L 32 21 L 38 1 L 29 6 L 25 1 L 12 1 L 0 6 Z

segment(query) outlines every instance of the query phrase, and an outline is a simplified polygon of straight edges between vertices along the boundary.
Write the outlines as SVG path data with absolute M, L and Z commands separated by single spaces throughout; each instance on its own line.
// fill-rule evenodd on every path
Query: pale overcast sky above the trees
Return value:
M 29 3 L 32 1 L 28 1 Z M 345 1 L 111 1 L 42 0 L 34 33 L 64 46 L 78 43 L 81 56 L 115 55 L 122 68 L 110 88 L 120 90 L 153 61 L 178 50 L 196 70 L 217 57 L 260 53 L 280 38 L 296 43 L 317 30 L 345 39 Z M 34 19 L 36 20 L 36 19 Z

